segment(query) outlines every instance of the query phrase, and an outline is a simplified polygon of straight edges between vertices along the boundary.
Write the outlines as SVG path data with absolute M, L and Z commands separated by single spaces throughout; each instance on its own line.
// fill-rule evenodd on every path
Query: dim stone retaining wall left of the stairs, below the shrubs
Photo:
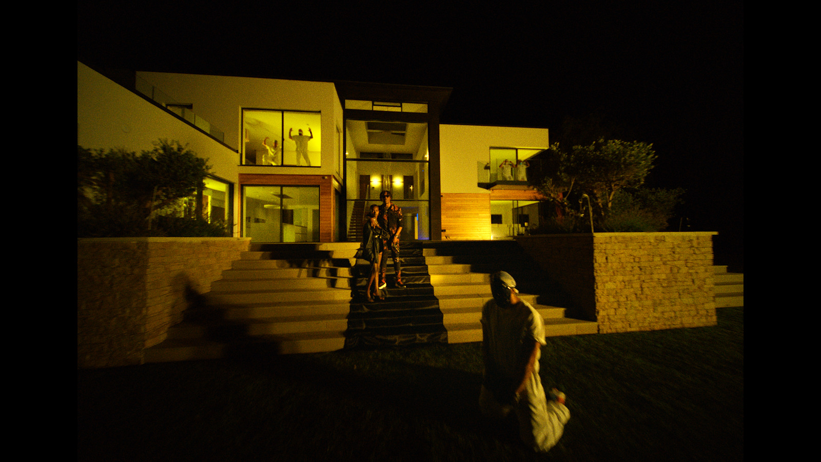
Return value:
M 250 238 L 77 239 L 77 366 L 141 364 Z

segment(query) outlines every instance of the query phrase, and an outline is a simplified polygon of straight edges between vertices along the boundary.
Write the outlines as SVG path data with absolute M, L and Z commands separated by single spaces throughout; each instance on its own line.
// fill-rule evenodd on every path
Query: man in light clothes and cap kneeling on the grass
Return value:
M 516 280 L 506 272 L 490 276 L 490 290 L 493 300 L 482 308 L 484 379 L 479 408 L 498 419 L 512 411 L 522 441 L 547 452 L 562 437 L 570 411 L 564 393 L 555 388 L 547 400 L 539 378 L 539 357 L 546 344 L 544 321 L 530 303 L 519 298 Z

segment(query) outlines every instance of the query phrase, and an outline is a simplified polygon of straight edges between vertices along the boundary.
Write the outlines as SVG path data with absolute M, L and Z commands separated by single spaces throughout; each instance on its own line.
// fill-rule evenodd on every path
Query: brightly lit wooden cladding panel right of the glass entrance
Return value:
M 442 238 L 490 238 L 489 194 L 442 194 Z

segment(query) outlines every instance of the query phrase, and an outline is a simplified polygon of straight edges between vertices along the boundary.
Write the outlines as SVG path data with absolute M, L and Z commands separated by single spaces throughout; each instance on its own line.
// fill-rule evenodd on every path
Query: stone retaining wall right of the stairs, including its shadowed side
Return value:
M 713 235 L 594 233 L 516 241 L 600 333 L 715 326 Z

